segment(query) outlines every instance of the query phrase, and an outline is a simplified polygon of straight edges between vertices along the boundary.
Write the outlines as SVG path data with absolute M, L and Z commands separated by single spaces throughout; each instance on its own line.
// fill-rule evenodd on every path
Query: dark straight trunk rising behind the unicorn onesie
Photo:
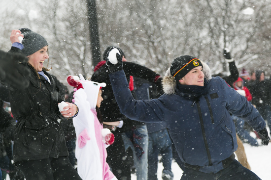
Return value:
M 86 0 L 86 1 L 88 11 L 88 24 L 90 30 L 92 64 L 93 66 L 96 66 L 101 61 L 100 41 L 96 13 L 96 1 L 95 0 Z

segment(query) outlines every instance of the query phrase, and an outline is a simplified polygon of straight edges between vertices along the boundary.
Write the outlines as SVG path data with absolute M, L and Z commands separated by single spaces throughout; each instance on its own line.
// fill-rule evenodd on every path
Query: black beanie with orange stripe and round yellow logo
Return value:
M 203 67 L 203 64 L 198 58 L 191 55 L 182 55 L 172 61 L 170 74 L 175 80 L 179 80 L 197 66 Z

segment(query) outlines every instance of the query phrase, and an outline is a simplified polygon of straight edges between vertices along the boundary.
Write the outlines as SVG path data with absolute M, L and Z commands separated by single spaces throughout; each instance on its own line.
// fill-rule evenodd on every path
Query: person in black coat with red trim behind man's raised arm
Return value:
M 117 177 L 117 179 L 122 180 L 126 178 L 127 180 L 131 180 L 130 163 L 128 162 L 128 158 L 125 157 L 126 151 L 125 151 L 125 144 L 123 141 L 122 133 L 125 133 L 125 132 L 130 133 L 132 128 L 140 127 L 142 125 L 146 126 L 146 125 L 144 125 L 142 122 L 131 121 L 126 116 L 120 113 L 120 109 L 115 100 L 113 90 L 111 87 L 111 82 L 108 77 L 109 70 L 105 64 L 106 62 L 105 60 L 107 60 L 109 51 L 114 48 L 117 48 L 117 47 L 110 46 L 104 51 L 103 61 L 98 63 L 98 65 L 95 67 L 94 69 L 95 73 L 91 77 L 91 80 L 96 81 L 96 82 L 106 83 L 106 87 L 103 88 L 103 101 L 101 103 L 101 108 L 100 108 L 104 122 L 105 123 L 118 122 L 118 121 L 124 122 L 122 128 L 118 128 L 118 127 L 116 128 L 116 126 L 113 126 L 116 129 L 112 129 L 110 128 L 110 126 L 109 127 L 104 126 L 104 128 L 111 129 L 112 133 L 115 135 L 115 142 L 106 149 L 107 150 L 106 161 L 109 164 L 109 166 L 112 168 L 112 172 Z M 125 58 L 123 51 L 119 48 L 117 49 L 121 53 L 121 56 Z M 126 70 L 126 78 L 129 79 L 131 83 L 132 83 L 132 80 L 130 80 L 131 76 L 142 78 L 149 82 L 161 83 L 161 81 L 159 80 L 160 75 L 151 71 L 150 69 L 140 66 L 138 64 L 132 63 L 132 62 L 127 62 L 127 61 L 123 62 L 123 64 L 124 64 L 123 67 Z M 130 85 L 130 89 L 132 89 L 131 85 Z M 133 132 L 138 132 L 135 129 L 133 129 L 134 130 Z M 147 131 L 145 130 L 144 132 L 146 132 L 145 134 L 147 135 Z M 133 136 L 131 133 L 130 135 Z M 136 141 L 136 139 L 134 140 Z M 147 136 L 146 136 L 146 141 L 148 142 Z M 136 148 L 137 154 L 141 155 L 142 153 L 144 153 L 144 156 L 147 154 L 147 152 L 142 152 L 142 149 L 136 144 L 134 146 L 137 147 Z M 146 148 L 146 151 L 147 151 L 147 148 Z M 146 174 L 147 163 L 144 163 L 144 164 L 145 165 L 143 167 L 143 170 L 145 171 L 144 173 Z

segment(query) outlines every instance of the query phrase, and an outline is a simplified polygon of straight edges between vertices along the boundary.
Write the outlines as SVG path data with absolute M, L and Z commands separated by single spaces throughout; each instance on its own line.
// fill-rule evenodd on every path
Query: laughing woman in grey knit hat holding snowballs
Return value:
M 20 41 L 20 38 L 23 40 Z M 25 89 L 9 86 L 12 114 L 18 120 L 14 132 L 14 163 L 24 173 L 26 180 L 81 180 L 68 160 L 68 149 L 58 119 L 74 117 L 75 104 L 60 111 L 62 97 L 56 83 L 45 71 L 48 43 L 44 37 L 28 28 L 12 30 L 9 53 L 21 53 L 28 62 L 19 62 L 31 71 L 19 72 L 29 81 Z

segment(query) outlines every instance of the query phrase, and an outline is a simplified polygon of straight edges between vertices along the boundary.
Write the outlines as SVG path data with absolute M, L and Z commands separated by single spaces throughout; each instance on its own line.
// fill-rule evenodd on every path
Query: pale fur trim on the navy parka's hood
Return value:
M 210 80 L 211 77 L 211 70 L 209 68 L 209 66 L 203 62 L 202 60 L 200 60 L 203 64 L 203 74 L 204 74 L 204 78 L 206 78 L 207 80 Z M 172 95 L 175 93 L 175 88 L 176 88 L 176 80 L 174 77 L 172 77 L 170 75 L 170 67 L 167 70 L 165 77 L 163 78 L 163 90 L 167 95 Z

